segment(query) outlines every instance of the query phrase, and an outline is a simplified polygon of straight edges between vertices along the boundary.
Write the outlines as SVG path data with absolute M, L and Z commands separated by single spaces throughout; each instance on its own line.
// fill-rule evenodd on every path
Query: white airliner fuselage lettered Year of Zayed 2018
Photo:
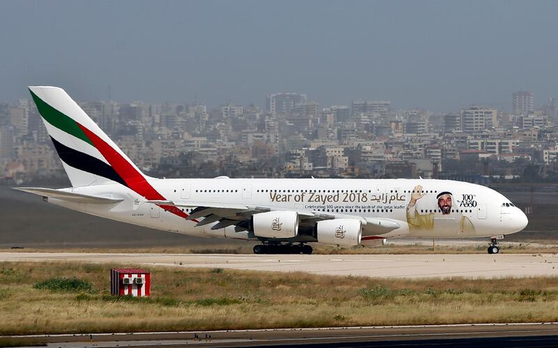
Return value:
M 359 218 L 386 218 L 401 225 L 385 237 L 475 237 L 519 232 L 525 214 L 504 195 L 472 183 L 435 179 L 149 179 L 166 199 L 181 202 L 230 203 L 271 210 L 330 213 Z M 412 191 L 422 186 L 420 199 L 409 207 Z M 115 204 L 84 204 L 50 198 L 48 202 L 103 218 L 192 236 L 250 239 L 234 226 L 211 230 L 196 227 L 172 211 L 146 202 L 120 184 L 68 188 L 87 195 L 122 198 Z M 451 192 L 451 209 L 442 212 L 437 195 Z M 447 208 L 447 207 L 446 207 Z M 192 208 L 183 209 L 189 213 Z M 411 222 L 409 211 L 418 219 Z M 418 221 L 418 222 L 416 222 Z M 413 225 L 417 223 L 418 225 Z M 422 224 L 422 225 L 421 225 Z M 472 226 L 470 227 L 464 227 Z M 384 236 L 380 236 L 384 237 Z M 364 241 L 363 241 L 364 242 Z

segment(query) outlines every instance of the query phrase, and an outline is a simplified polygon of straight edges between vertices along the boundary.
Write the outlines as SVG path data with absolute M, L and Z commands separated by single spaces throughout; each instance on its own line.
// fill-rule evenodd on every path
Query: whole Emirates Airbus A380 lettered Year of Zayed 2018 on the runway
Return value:
M 434 179 L 156 179 L 52 86 L 31 86 L 71 188 L 18 188 L 68 209 L 193 236 L 261 241 L 255 253 L 374 239 L 490 237 L 520 232 L 525 214 L 495 190 Z

